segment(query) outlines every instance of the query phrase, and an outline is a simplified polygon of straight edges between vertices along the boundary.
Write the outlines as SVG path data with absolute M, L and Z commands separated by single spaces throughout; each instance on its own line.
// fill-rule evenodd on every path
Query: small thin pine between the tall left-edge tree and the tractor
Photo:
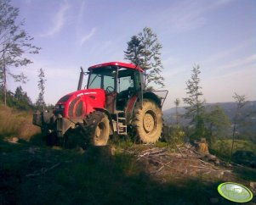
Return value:
M 39 75 L 38 75 L 38 84 L 37 87 L 39 89 L 39 94 L 37 97 L 37 102 L 36 106 L 37 108 L 41 108 L 44 110 L 45 108 L 45 101 L 44 101 L 44 90 L 45 90 L 45 75 L 44 75 L 44 70 L 41 68 L 39 69 Z

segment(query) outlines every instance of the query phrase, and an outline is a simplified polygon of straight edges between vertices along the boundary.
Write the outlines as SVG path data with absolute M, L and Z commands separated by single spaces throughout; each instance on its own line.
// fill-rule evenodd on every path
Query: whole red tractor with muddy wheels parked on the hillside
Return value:
M 88 83 L 82 80 L 88 75 Z M 160 93 L 164 94 L 160 97 Z M 147 91 L 144 70 L 134 64 L 111 62 L 81 69 L 77 91 L 61 97 L 53 113 L 33 115 L 48 140 L 71 140 L 71 130 L 82 130 L 84 143 L 105 146 L 111 135 L 130 132 L 144 143 L 162 135 L 162 103 L 168 91 Z

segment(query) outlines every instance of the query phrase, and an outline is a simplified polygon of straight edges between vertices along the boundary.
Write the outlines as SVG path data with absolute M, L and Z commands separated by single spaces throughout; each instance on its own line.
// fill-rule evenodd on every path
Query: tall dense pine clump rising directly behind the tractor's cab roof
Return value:
M 132 36 L 128 42 L 124 58 L 145 70 L 145 88 L 151 90 L 152 86 L 164 86 L 162 77 L 162 60 L 160 50 L 162 45 L 151 28 L 145 27 L 137 36 Z

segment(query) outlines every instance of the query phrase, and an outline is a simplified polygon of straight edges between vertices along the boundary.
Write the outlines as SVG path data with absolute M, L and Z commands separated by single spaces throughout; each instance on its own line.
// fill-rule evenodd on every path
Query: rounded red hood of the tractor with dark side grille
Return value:
M 61 97 L 55 105 L 54 115 L 76 119 L 93 112 L 94 108 L 105 108 L 105 91 L 102 89 L 74 91 Z

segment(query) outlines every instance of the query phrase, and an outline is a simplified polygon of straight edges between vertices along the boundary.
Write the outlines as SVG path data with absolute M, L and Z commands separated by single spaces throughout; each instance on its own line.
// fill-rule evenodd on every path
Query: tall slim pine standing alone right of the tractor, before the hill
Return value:
M 185 116 L 191 119 L 191 125 L 194 125 L 194 133 L 192 138 L 199 138 L 205 136 L 205 125 L 204 125 L 204 104 L 205 101 L 202 97 L 202 87 L 199 85 L 201 73 L 199 65 L 195 65 L 191 70 L 191 79 L 187 80 L 186 83 L 186 94 L 188 97 L 183 98 L 183 101 L 187 107 Z

